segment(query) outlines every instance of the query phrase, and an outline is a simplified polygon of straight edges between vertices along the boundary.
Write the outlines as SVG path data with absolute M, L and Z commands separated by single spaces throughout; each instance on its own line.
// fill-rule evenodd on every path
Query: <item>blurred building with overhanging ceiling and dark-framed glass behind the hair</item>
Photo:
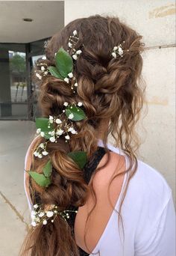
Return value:
M 63 1 L 0 1 L 0 120 L 40 115 L 31 70 L 63 28 L 63 12 Z

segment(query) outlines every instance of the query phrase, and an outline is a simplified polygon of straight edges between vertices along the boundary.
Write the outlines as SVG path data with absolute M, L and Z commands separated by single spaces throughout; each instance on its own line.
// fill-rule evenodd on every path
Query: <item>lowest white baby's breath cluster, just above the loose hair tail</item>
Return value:
M 57 205 L 51 204 L 50 210 L 43 210 L 39 204 L 34 204 L 34 209 L 31 210 L 31 225 L 36 227 L 40 223 L 46 225 L 48 223 L 48 219 L 51 219 L 51 222 L 54 222 L 54 218 L 59 214 L 66 219 L 69 219 L 69 213 L 78 213 L 77 210 L 63 210 L 62 212 L 58 212 Z

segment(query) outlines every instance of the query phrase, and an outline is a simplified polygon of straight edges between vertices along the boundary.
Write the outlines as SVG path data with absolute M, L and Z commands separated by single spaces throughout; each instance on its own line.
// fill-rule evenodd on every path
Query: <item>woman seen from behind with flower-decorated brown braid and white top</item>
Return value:
M 21 255 L 175 255 L 172 190 L 134 150 L 141 38 L 118 18 L 89 16 L 37 61 L 43 118 L 25 158 L 32 222 Z

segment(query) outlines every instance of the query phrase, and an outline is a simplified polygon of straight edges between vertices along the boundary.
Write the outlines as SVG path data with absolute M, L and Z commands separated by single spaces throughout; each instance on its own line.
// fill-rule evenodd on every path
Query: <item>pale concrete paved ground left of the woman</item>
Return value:
M 35 130 L 31 121 L 0 122 L 0 256 L 19 255 L 30 222 L 23 171 Z

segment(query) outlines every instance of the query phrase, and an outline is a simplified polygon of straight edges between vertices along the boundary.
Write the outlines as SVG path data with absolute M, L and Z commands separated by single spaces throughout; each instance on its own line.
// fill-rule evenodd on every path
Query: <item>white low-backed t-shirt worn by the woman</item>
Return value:
M 101 140 L 98 145 L 103 146 Z M 107 147 L 124 155 L 128 166 L 128 157 L 122 150 L 111 144 L 107 144 Z M 113 211 L 89 256 L 99 256 L 98 250 L 100 256 L 175 256 L 175 207 L 172 189 L 159 171 L 139 159 L 137 161 L 138 168 L 128 184 L 121 210 L 125 239 L 123 240 L 121 222 L 119 231 L 118 214 Z M 125 174 L 116 210 L 119 210 L 127 180 L 128 173 Z M 28 198 L 26 189 L 25 193 Z M 31 209 L 29 198 L 28 204 Z

